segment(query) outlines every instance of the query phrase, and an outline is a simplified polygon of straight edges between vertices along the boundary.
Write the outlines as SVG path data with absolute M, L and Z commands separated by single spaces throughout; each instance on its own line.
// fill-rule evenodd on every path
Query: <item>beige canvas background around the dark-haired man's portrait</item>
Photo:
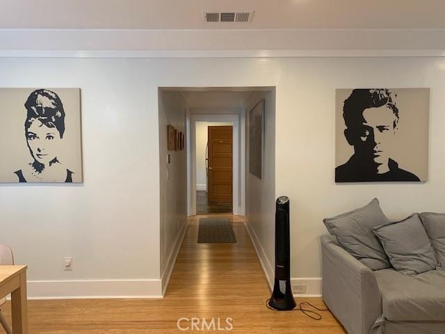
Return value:
M 371 88 L 372 89 L 372 88 Z M 421 182 L 428 181 L 428 143 L 430 124 L 430 88 L 388 88 L 397 95 L 400 120 L 391 147 L 391 159 L 398 166 L 419 177 Z M 336 90 L 335 123 L 336 150 L 335 166 L 340 166 L 353 155 L 354 148 L 343 134 L 343 102 L 353 89 Z

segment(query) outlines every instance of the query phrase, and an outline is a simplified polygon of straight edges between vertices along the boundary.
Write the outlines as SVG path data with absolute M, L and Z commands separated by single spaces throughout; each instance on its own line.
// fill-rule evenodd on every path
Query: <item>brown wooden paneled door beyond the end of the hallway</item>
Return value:
M 209 202 L 232 202 L 232 126 L 208 127 Z

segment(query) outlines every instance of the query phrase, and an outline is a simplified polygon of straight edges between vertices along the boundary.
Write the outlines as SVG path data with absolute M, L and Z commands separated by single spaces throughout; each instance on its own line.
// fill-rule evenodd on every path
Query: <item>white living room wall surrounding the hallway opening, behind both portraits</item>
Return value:
M 0 72 L 3 87 L 81 88 L 84 184 L 0 186 L 0 242 L 33 281 L 136 280 L 120 294 L 159 283 L 159 86 L 276 86 L 274 198 L 291 200 L 291 276 L 308 294 L 323 217 L 373 197 L 390 219 L 445 211 L 444 58 L 1 58 Z M 375 86 L 431 88 L 426 184 L 334 183 L 335 89 Z

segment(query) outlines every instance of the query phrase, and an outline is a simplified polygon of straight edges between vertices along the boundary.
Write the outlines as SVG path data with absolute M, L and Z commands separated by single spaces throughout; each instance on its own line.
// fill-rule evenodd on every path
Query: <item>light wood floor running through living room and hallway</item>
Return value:
M 221 328 L 231 317 L 234 329 L 229 333 L 346 333 L 330 312 L 322 312 L 323 320 L 314 321 L 296 310 L 268 310 L 265 303 L 270 291 L 243 219 L 228 217 L 234 226 L 236 244 L 197 244 L 199 217 L 190 218 L 164 299 L 29 301 L 29 333 L 200 332 L 179 331 L 177 320 L 181 317 L 206 321 L 219 317 Z M 305 301 L 325 306 L 321 299 Z M 8 320 L 9 310 L 10 305 L 3 308 Z M 181 325 L 190 323 L 184 321 Z

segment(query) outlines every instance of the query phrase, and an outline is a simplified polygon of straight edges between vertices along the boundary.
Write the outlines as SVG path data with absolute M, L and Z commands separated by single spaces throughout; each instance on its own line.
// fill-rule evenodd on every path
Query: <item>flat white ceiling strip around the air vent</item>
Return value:
M 0 29 L 445 29 L 444 0 L 0 0 Z M 204 10 L 255 10 L 250 23 Z

